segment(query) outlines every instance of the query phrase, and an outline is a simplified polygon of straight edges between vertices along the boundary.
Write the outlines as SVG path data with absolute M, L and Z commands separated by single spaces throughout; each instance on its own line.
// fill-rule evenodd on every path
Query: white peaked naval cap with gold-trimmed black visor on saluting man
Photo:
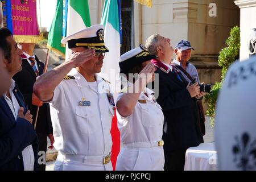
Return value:
M 95 24 L 77 31 L 61 40 L 61 44 L 68 44 L 68 48 L 93 48 L 96 52 L 109 52 L 104 43 L 104 26 Z

